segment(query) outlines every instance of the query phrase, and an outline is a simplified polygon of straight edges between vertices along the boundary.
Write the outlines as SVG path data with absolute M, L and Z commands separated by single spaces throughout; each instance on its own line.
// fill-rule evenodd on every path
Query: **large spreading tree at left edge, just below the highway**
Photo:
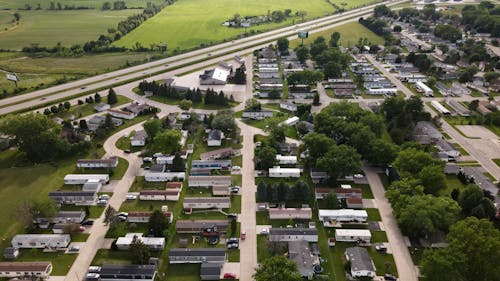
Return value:
M 69 144 L 60 139 L 61 126 L 42 114 L 19 114 L 5 117 L 0 132 L 13 136 L 19 151 L 33 162 L 45 162 L 62 156 Z

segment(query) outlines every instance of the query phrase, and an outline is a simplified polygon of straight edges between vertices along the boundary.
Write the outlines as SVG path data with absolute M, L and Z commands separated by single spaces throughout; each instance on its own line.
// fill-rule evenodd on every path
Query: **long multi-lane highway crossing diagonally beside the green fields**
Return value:
M 377 5 L 387 4 L 388 6 L 392 6 L 397 5 L 401 2 L 404 1 L 386 1 L 378 3 Z M 190 70 L 215 64 L 220 60 L 232 58 L 235 55 L 242 55 L 248 52 L 252 52 L 254 49 L 265 46 L 271 41 L 283 36 L 289 36 L 289 39 L 295 39 L 297 38 L 297 30 L 308 30 L 310 33 L 314 33 L 337 25 L 345 24 L 349 21 L 356 21 L 358 17 L 370 14 L 373 7 L 375 6 L 376 5 L 370 5 L 342 14 L 327 16 L 324 18 L 297 24 L 295 26 L 288 26 L 243 39 L 238 39 L 204 49 L 199 49 L 185 54 L 180 54 L 177 56 L 172 56 L 165 59 L 124 68 L 113 72 L 108 72 L 105 74 L 100 74 L 82 80 L 69 82 L 63 85 L 34 91 L 28 94 L 3 99 L 0 101 L 0 107 L 2 107 L 0 108 L 0 115 L 8 114 L 22 109 L 36 108 L 39 104 L 47 103 L 50 101 L 57 101 L 103 87 L 110 87 L 113 84 L 119 83 L 121 81 L 133 79 L 139 80 L 143 77 L 147 77 L 148 74 L 151 73 L 166 72 L 168 70 L 175 73 L 185 73 Z M 203 60 L 203 62 L 200 62 L 201 60 Z M 189 64 L 191 64 L 191 67 L 182 67 Z M 193 65 L 196 65 L 196 67 L 193 68 Z

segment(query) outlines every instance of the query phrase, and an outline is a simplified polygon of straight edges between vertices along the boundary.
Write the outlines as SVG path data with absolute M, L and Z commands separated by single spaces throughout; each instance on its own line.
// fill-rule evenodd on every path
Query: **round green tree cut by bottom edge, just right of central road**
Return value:
M 284 257 L 273 256 L 260 263 L 253 278 L 255 281 L 301 281 L 297 265 Z

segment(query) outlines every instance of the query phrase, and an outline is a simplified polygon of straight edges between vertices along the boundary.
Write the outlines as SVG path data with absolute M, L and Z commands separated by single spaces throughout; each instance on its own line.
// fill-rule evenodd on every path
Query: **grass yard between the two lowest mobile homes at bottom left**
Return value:
M 44 253 L 40 249 L 21 249 L 19 252 L 16 261 L 51 261 L 53 276 L 66 275 L 77 256 L 77 254 L 65 254 L 63 251 Z

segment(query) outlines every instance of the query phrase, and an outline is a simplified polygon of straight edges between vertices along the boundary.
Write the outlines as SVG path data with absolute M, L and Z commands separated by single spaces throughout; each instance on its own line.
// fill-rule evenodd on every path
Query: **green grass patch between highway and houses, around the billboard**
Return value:
M 373 33 L 368 28 L 357 22 L 350 22 L 344 25 L 334 27 L 332 29 L 327 29 L 317 33 L 311 33 L 309 38 L 304 40 L 304 44 L 311 44 L 314 39 L 319 36 L 323 36 L 327 41 L 330 40 L 330 36 L 333 32 L 340 33 L 340 44 L 344 47 L 354 46 L 358 43 L 359 38 L 368 38 L 368 40 L 374 44 L 384 44 L 384 39 L 375 33 Z M 301 40 L 295 39 L 290 42 L 290 47 L 295 48 L 299 46 Z

